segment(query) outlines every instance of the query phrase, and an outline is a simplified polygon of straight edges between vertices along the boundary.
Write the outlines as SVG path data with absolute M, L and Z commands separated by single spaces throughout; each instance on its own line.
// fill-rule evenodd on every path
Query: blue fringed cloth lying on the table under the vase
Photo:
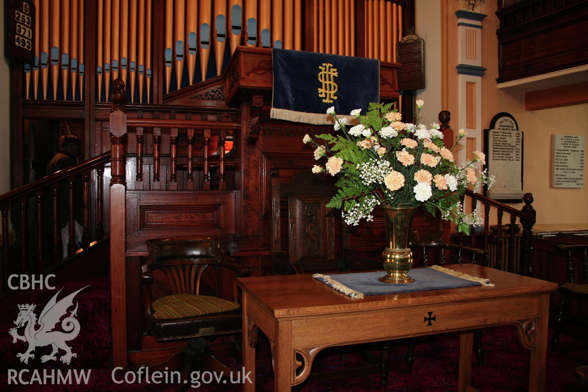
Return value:
M 350 297 L 363 298 L 377 294 L 420 292 L 424 290 L 453 289 L 455 287 L 494 286 L 489 280 L 456 272 L 445 267 L 432 266 L 417 268 L 408 273 L 415 283 L 390 284 L 378 282 L 386 272 L 359 272 L 348 274 L 322 275 L 313 277 Z M 455 276 L 452 276 L 455 275 Z

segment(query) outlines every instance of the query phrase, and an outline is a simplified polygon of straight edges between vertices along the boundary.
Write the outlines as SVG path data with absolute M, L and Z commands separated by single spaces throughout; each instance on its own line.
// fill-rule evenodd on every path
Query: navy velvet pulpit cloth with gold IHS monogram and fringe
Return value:
M 275 48 L 272 57 L 271 118 L 332 124 L 326 110 L 335 106 L 338 116 L 357 121 L 351 110 L 365 114 L 370 102 L 379 102 L 379 60 Z

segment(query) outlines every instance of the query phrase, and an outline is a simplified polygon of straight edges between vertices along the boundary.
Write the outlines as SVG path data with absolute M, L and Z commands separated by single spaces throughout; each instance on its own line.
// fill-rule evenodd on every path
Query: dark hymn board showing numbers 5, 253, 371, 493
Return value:
M 9 0 L 6 56 L 35 63 L 35 5 L 31 0 Z

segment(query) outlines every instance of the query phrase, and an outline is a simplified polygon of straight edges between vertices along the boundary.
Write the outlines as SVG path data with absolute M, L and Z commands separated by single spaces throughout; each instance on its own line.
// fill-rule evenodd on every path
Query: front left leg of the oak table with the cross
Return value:
M 280 321 L 278 339 L 273 347 L 274 391 L 292 390 L 294 353 L 292 351 L 292 321 Z

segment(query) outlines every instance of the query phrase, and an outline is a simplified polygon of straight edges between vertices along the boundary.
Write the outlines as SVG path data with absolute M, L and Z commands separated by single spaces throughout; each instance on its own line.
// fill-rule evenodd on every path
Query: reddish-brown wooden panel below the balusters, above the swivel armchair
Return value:
M 126 251 L 146 252 L 149 238 L 235 233 L 236 191 L 128 190 Z

